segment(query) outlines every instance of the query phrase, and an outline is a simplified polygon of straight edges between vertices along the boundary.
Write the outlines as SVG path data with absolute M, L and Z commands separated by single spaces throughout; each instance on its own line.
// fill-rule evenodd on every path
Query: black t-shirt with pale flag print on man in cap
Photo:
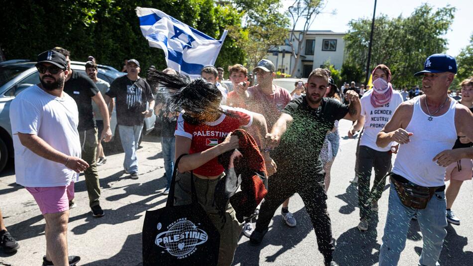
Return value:
M 154 99 L 145 80 L 131 81 L 127 76 L 114 80 L 106 95 L 116 98 L 117 124 L 122 126 L 143 125 L 144 115 L 141 113 L 146 111 L 146 103 Z

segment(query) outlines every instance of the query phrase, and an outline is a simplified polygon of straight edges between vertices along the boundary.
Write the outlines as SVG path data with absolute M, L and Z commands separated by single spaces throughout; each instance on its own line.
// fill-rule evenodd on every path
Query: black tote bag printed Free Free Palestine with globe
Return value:
M 183 155 L 174 166 L 166 207 L 146 211 L 142 234 L 143 266 L 217 265 L 220 233 L 197 202 L 192 172 L 176 171 Z M 176 175 L 181 180 L 190 179 L 190 204 L 174 206 Z

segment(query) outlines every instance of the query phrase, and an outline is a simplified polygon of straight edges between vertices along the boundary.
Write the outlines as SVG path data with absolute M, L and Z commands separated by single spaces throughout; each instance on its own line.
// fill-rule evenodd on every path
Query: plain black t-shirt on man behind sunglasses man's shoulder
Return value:
M 90 130 L 96 127 L 92 97 L 99 93 L 94 81 L 77 71 L 72 71 L 71 78 L 64 84 L 64 92 L 76 101 L 79 110 L 78 131 Z

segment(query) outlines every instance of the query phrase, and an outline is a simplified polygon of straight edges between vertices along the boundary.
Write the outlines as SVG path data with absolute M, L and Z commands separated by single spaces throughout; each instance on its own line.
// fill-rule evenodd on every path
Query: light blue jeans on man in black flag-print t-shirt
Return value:
M 138 172 L 138 158 L 136 157 L 136 150 L 138 149 L 138 141 L 139 136 L 141 135 L 141 130 L 143 130 L 143 125 L 118 125 L 121 146 L 123 147 L 123 151 L 125 152 L 123 168 L 129 173 Z

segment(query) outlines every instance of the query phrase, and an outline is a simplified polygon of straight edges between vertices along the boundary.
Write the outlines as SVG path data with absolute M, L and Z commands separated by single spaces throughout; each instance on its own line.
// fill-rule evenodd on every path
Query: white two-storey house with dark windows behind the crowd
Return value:
M 296 34 L 302 35 L 302 31 Z M 345 33 L 331 30 L 309 30 L 301 43 L 302 52 L 297 62 L 288 40 L 284 45 L 271 47 L 266 58 L 274 63 L 278 71 L 286 74 L 291 74 L 296 65 L 294 77 L 297 78 L 307 78 L 313 69 L 321 67 L 327 60 L 336 69 L 341 69 L 345 57 L 344 36 Z M 295 45 L 297 51 L 297 42 Z

